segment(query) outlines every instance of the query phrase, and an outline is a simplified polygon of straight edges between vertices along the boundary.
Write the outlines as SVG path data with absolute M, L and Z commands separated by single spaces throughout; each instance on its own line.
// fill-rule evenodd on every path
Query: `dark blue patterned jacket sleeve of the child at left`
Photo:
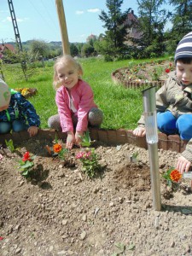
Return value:
M 18 102 L 19 112 L 26 118 L 29 126 L 39 126 L 40 119 L 35 108 L 32 106 L 32 103 L 28 102 L 20 93 L 15 93 L 14 96 Z

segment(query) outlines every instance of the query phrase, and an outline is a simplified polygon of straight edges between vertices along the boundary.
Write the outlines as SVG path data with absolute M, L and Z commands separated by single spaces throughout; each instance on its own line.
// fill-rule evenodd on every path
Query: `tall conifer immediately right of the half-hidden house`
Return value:
M 142 32 L 139 45 L 143 46 L 146 57 L 161 55 L 165 50 L 164 29 L 171 15 L 166 9 L 160 9 L 165 0 L 137 0 L 139 22 Z

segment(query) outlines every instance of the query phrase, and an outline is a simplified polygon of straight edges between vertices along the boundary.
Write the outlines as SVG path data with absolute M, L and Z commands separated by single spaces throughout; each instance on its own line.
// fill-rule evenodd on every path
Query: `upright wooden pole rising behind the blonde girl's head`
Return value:
M 62 0 L 55 0 L 55 4 L 56 4 L 57 15 L 59 18 L 59 23 L 60 23 L 62 51 L 63 51 L 63 54 L 70 55 L 70 47 L 69 47 L 68 35 L 67 35 L 66 17 L 65 17 Z

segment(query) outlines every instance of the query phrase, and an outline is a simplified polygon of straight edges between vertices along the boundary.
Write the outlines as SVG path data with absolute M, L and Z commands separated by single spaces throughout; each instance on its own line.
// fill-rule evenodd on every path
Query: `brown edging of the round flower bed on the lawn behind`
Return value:
M 124 69 L 125 67 L 121 67 L 119 69 L 116 69 L 115 71 L 113 71 L 113 73 L 111 73 L 111 78 L 113 79 L 113 82 L 115 84 L 123 84 L 125 88 L 140 88 L 140 87 L 148 87 L 148 86 L 157 86 L 157 87 L 161 87 L 165 81 L 151 81 L 151 82 L 131 82 L 131 81 L 127 81 L 127 80 L 121 80 L 115 77 L 115 73 L 118 73 L 120 70 Z

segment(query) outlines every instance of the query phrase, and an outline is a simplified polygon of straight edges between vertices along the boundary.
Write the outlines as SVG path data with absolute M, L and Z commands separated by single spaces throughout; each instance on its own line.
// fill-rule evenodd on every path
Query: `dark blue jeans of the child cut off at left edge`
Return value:
M 9 133 L 11 130 L 13 131 L 25 131 L 27 130 L 29 125 L 26 123 L 15 119 L 11 122 L 0 122 L 0 134 Z

